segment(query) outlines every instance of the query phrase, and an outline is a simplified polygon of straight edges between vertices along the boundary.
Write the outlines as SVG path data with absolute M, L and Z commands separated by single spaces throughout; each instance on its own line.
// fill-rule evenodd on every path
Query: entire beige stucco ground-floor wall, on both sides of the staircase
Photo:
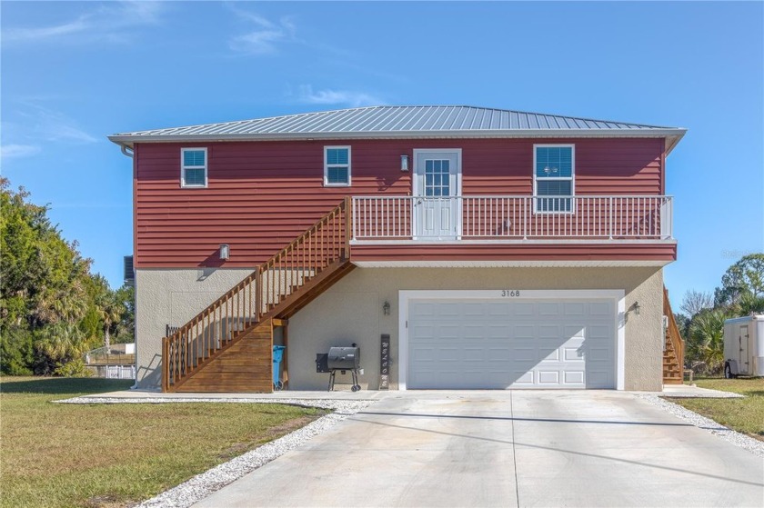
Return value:
M 166 325 L 185 324 L 241 281 L 249 269 L 142 269 L 136 271 L 138 387 L 161 383 L 161 340 Z M 364 389 L 379 383 L 380 335 L 391 340 L 390 388 L 398 379 L 398 291 L 504 289 L 619 289 L 626 308 L 640 314 L 625 324 L 625 389 L 660 391 L 663 354 L 663 276 L 660 268 L 357 268 L 289 319 L 286 369 L 290 390 L 326 390 L 316 354 L 332 345 L 361 348 Z M 390 315 L 382 306 L 391 305 Z M 281 337 L 276 337 L 276 344 Z M 349 375 L 347 375 L 349 380 Z M 337 376 L 337 382 L 345 381 Z

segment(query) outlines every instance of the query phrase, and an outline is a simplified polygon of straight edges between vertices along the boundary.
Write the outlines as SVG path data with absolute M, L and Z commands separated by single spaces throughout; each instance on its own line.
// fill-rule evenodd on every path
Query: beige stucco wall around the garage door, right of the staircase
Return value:
M 332 345 L 361 348 L 364 389 L 379 382 L 381 334 L 391 339 L 390 387 L 397 388 L 398 291 L 465 289 L 621 289 L 626 308 L 625 389 L 660 391 L 663 355 L 663 276 L 660 268 L 357 268 L 292 316 L 288 327 L 288 388 L 326 390 L 316 354 Z M 390 315 L 382 306 L 391 305 Z M 347 375 L 349 379 L 349 374 Z M 337 381 L 342 381 L 337 376 Z

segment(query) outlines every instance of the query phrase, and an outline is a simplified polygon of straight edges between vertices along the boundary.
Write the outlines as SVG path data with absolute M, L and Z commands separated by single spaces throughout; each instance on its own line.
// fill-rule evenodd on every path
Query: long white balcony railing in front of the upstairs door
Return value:
M 667 240 L 666 195 L 357 196 L 352 239 Z

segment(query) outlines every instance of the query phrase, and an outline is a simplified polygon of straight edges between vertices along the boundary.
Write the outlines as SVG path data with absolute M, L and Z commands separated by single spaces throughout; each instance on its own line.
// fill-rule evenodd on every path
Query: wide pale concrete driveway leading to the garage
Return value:
M 199 507 L 762 506 L 764 461 L 631 393 L 390 393 Z

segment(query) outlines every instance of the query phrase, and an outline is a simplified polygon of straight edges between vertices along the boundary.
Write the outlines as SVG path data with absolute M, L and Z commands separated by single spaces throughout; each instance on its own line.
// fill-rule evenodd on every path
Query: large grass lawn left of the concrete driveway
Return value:
M 131 384 L 0 378 L 0 506 L 130 506 L 324 414 L 281 404 L 50 403 Z

